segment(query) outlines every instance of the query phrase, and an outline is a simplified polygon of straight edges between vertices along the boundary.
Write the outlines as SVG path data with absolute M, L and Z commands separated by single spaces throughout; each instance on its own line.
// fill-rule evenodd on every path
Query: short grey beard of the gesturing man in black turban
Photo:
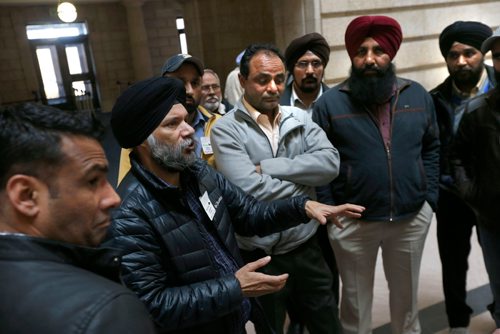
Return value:
M 195 163 L 194 151 L 190 154 L 183 153 L 193 140 L 193 138 L 183 139 L 177 145 L 168 145 L 159 142 L 153 134 L 147 139 L 153 160 L 169 172 L 182 172 Z

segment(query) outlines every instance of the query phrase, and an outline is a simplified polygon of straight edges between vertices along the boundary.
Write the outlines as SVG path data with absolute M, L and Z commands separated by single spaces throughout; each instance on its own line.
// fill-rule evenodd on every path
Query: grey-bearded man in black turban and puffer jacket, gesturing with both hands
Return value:
M 270 257 L 242 267 L 235 231 L 265 235 L 310 218 L 359 217 L 363 208 L 304 196 L 261 203 L 246 195 L 196 160 L 184 94 L 179 80 L 152 78 L 129 87 L 113 107 L 113 133 L 133 150 L 106 244 L 126 253 L 124 282 L 162 333 L 243 333 L 250 319 L 269 332 L 250 297 L 278 291 L 288 275 L 257 272 Z

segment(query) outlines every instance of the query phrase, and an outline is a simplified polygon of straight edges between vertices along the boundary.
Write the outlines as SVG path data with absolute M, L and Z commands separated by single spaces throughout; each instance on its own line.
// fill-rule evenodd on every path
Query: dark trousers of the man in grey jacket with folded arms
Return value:
M 245 262 L 266 255 L 259 250 L 241 253 Z M 258 298 L 277 334 L 283 333 L 288 301 L 300 312 L 309 333 L 341 333 L 332 276 L 316 237 L 291 252 L 271 255 L 271 263 L 261 271 L 269 275 L 289 274 L 282 290 Z

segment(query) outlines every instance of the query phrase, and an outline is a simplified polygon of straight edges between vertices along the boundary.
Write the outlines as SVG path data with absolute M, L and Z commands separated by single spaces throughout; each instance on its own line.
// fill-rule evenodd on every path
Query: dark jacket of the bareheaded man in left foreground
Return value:
M 154 333 L 115 251 L 0 234 L 0 333 Z

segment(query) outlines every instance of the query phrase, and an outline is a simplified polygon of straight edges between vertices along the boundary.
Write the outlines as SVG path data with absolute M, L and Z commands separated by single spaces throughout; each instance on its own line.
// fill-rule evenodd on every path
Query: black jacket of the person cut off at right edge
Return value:
M 468 102 L 450 157 L 457 187 L 479 224 L 500 233 L 500 88 Z

